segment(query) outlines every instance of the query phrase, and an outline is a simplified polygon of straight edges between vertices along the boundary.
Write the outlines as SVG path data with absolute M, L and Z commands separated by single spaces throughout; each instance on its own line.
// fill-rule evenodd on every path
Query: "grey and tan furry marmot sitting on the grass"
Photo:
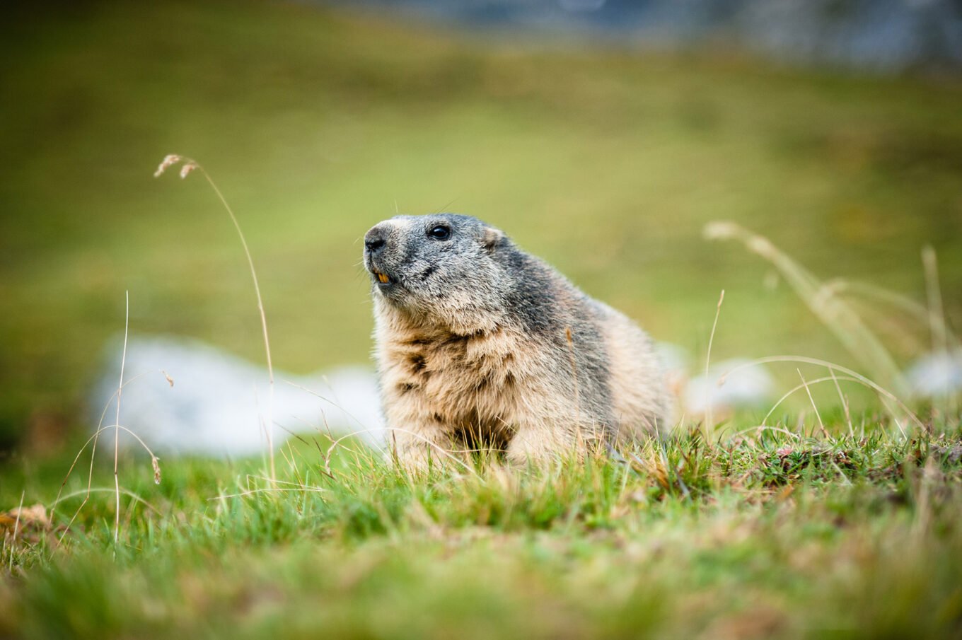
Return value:
M 365 236 L 389 444 L 406 467 L 477 444 L 509 462 L 668 427 L 647 334 L 477 218 L 397 216 Z

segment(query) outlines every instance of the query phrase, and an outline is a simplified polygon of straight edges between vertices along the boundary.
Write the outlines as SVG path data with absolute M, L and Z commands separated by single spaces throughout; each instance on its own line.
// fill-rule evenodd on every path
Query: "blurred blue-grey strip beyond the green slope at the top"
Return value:
M 379 11 L 528 34 L 677 49 L 707 42 L 794 64 L 872 72 L 962 70 L 952 0 L 348 0 Z

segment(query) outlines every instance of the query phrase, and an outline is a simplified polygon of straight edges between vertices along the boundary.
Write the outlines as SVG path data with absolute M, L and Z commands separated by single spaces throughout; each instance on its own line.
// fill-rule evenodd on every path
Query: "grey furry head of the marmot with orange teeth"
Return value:
M 469 216 L 397 216 L 364 240 L 376 305 L 455 333 L 497 325 L 511 285 L 494 259 L 510 245 L 501 231 Z

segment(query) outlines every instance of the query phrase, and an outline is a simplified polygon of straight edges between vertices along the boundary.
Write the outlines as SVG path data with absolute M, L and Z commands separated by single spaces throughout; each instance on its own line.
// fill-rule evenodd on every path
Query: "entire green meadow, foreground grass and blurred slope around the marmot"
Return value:
M 126 451 L 119 510 L 109 437 L 64 482 L 125 292 L 132 334 L 263 359 L 230 219 L 197 175 L 151 177 L 167 153 L 202 163 L 237 213 L 289 371 L 367 361 L 360 238 L 396 211 L 451 210 L 695 370 L 723 289 L 713 360 L 874 377 L 791 274 L 703 231 L 733 220 L 822 281 L 867 283 L 846 309 L 904 369 L 938 343 L 924 246 L 949 328 L 962 318 L 957 79 L 287 3 L 28 6 L 5 30 L 0 634 L 962 637 L 950 399 L 906 397 L 914 422 L 823 384 L 772 428 L 769 406 L 686 420 L 622 460 L 527 472 L 410 477 L 312 432 L 278 452 L 276 482 L 266 459 L 161 459 L 155 484 Z M 784 391 L 797 369 L 825 375 L 772 364 Z

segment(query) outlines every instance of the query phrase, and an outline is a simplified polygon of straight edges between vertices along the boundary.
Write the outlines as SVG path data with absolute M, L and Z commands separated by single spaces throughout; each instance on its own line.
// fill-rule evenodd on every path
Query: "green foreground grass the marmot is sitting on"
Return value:
M 24 637 L 958 637 L 959 435 L 693 431 L 630 466 L 421 478 L 353 448 L 328 475 L 293 441 L 279 492 L 258 492 L 258 461 L 166 463 L 154 485 L 127 459 L 148 504 L 123 504 L 120 543 L 110 493 L 68 532 L 8 537 L 0 620 Z M 16 484 L 52 498 L 47 472 Z

